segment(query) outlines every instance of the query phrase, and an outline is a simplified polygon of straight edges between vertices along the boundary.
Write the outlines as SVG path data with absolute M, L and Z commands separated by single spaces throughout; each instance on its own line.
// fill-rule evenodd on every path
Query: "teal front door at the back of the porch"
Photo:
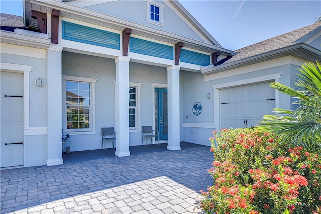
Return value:
M 155 88 L 155 129 L 159 140 L 167 140 L 167 89 Z

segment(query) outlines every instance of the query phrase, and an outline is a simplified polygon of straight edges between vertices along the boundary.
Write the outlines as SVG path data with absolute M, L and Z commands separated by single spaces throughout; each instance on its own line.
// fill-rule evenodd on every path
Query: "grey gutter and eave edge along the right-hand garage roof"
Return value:
M 202 74 L 214 74 L 214 73 L 219 73 L 219 72 L 223 72 L 223 71 L 227 71 L 227 70 L 231 70 L 231 69 L 235 69 L 235 68 L 239 68 L 239 67 L 243 67 L 245 65 L 248 64 L 255 64 L 258 62 L 263 62 L 266 61 L 268 58 L 268 60 L 270 60 L 271 58 L 275 59 L 277 58 L 279 55 L 281 54 L 288 54 L 288 55 L 292 55 L 288 52 L 291 51 L 295 51 L 295 50 L 300 50 L 303 52 L 306 52 L 310 55 L 314 55 L 316 57 L 321 56 L 321 50 L 318 50 L 312 46 L 309 46 L 305 43 L 298 43 L 298 44 L 294 44 L 291 46 L 287 46 L 287 47 L 283 47 L 280 49 L 276 49 L 276 50 L 272 50 L 269 52 L 265 52 L 262 54 L 258 54 L 255 56 L 251 56 L 248 58 L 244 58 L 244 59 L 240 59 L 231 63 L 226 63 L 226 64 L 222 64 L 222 65 L 217 65 L 217 66 L 213 66 L 213 65 L 208 65 L 205 67 L 201 68 L 201 73 Z M 320 58 L 321 59 L 321 58 Z

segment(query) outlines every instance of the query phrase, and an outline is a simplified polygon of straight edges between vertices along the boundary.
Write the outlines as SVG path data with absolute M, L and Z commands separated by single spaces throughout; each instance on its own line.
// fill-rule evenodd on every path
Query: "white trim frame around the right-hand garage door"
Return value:
M 212 85 L 213 88 L 213 102 L 214 102 L 214 109 L 216 110 L 214 114 L 214 124 L 216 124 L 216 127 L 221 127 L 221 121 L 220 121 L 220 89 L 229 88 L 229 87 L 235 87 L 235 86 L 241 86 L 241 85 L 247 85 L 247 84 L 255 84 L 260 82 L 266 82 L 266 81 L 275 81 L 279 82 L 279 79 L 281 78 L 282 73 L 276 73 L 266 76 L 260 76 L 260 77 L 254 77 L 250 79 L 244 79 L 244 80 L 237 80 L 233 82 L 227 82 L 217 85 Z M 279 91 L 275 90 L 275 108 L 279 108 Z M 217 111 L 218 110 L 218 111 Z

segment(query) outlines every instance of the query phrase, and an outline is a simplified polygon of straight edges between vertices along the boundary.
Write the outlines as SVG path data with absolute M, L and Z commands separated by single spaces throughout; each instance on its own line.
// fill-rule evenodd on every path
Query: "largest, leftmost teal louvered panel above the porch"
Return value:
M 119 34 L 65 21 L 62 21 L 62 38 L 90 45 L 120 49 Z

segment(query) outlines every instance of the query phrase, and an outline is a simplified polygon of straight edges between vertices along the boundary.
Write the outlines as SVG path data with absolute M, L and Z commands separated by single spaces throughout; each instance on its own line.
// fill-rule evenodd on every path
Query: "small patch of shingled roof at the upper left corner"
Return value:
M 0 29 L 5 31 L 14 31 L 15 28 L 24 28 L 23 17 L 0 13 Z

